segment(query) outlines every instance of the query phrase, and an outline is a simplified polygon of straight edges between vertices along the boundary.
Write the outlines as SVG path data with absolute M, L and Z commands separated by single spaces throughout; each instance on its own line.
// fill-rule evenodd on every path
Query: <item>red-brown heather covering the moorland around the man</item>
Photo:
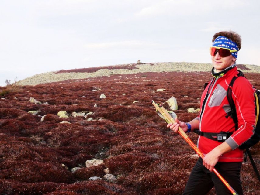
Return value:
M 246 70 L 243 65 L 240 68 Z M 245 76 L 260 88 L 259 73 Z M 164 103 L 174 96 L 179 107 L 176 114 L 189 121 L 197 114 L 187 109 L 199 108 L 198 98 L 210 78 L 209 72 L 147 72 L 22 86 L 19 91 L 2 93 L 0 194 L 181 194 L 198 157 L 180 135 L 166 128 L 150 101 Z M 159 88 L 165 91 L 156 92 Z M 4 90 L 0 87 L 0 92 Z M 100 99 L 101 94 L 106 98 Z M 33 104 L 30 97 L 49 105 Z M 32 110 L 41 111 L 45 120 L 40 122 L 40 116 L 27 113 Z M 69 115 L 94 112 L 94 120 L 59 118 L 61 110 Z M 196 142 L 196 134 L 189 133 L 189 137 Z M 99 155 L 101 151 L 105 154 Z M 260 144 L 251 152 L 259 167 Z M 104 164 L 85 168 L 85 161 L 93 158 L 103 159 Z M 72 173 L 79 165 L 84 168 Z M 102 178 L 105 168 L 117 177 L 116 183 L 88 180 Z M 249 160 L 242 164 L 241 181 L 245 195 L 260 194 Z

